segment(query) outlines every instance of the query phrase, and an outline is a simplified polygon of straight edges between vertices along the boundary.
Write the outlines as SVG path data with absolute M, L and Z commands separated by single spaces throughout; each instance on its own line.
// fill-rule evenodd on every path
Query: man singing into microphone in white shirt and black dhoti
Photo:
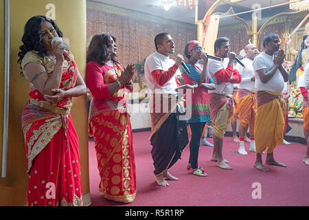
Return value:
M 152 159 L 155 166 L 156 181 L 159 186 L 169 186 L 168 181 L 178 180 L 169 172 L 180 157 L 183 148 L 189 143 L 185 120 L 179 120 L 176 110 L 177 91 L 180 86 L 175 73 L 183 61 L 177 54 L 175 61 L 170 59 L 174 54 L 174 40 L 168 33 L 155 37 L 156 52 L 150 54 L 145 62 L 146 85 L 150 92 L 150 117 L 152 133 Z

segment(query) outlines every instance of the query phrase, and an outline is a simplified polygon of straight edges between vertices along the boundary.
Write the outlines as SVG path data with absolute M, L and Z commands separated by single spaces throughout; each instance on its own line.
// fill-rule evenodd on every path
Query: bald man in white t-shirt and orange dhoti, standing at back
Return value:
M 255 152 L 255 140 L 254 140 L 254 120 L 256 115 L 256 99 L 254 88 L 254 70 L 253 60 L 258 55 L 258 48 L 254 44 L 249 43 L 244 47 L 246 57 L 242 59 L 244 67 L 239 63 L 236 65 L 236 69 L 242 75 L 242 81 L 238 87 L 238 114 L 239 114 L 239 149 L 238 153 L 241 155 L 247 155 L 246 148 L 244 147 L 244 137 L 247 134 L 247 126 L 249 126 L 250 134 L 250 149 L 249 151 Z

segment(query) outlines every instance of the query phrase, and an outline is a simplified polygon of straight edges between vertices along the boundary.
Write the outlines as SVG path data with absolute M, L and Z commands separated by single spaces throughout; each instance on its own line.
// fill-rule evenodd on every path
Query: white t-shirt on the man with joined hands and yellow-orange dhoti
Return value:
M 273 67 L 273 56 L 266 54 L 265 52 L 260 53 L 253 60 L 253 69 L 255 74 L 255 91 L 271 91 L 275 94 L 281 94 L 284 89 L 284 78 L 277 69 L 273 77 L 266 83 L 262 83 L 257 70 L 266 69 L 268 71 Z

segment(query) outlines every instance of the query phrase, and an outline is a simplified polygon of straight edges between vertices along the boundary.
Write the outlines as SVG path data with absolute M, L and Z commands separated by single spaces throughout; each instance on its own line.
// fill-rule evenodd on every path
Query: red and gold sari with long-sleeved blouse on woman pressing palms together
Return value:
M 132 202 L 136 195 L 136 170 L 132 129 L 128 113 L 128 88 L 109 95 L 108 84 L 121 76 L 122 66 L 87 63 L 87 86 L 91 91 L 89 135 L 95 141 L 100 192 L 106 199 Z M 133 87 L 130 87 L 133 91 Z

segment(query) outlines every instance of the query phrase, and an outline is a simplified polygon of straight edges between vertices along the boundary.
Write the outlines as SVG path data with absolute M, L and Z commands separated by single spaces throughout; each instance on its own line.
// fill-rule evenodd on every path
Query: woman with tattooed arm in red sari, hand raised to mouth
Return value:
M 22 113 L 29 176 L 28 206 L 82 206 L 78 136 L 72 97 L 86 94 L 73 55 L 60 46 L 62 32 L 51 19 L 32 17 L 25 25 L 19 61 L 30 83 Z

